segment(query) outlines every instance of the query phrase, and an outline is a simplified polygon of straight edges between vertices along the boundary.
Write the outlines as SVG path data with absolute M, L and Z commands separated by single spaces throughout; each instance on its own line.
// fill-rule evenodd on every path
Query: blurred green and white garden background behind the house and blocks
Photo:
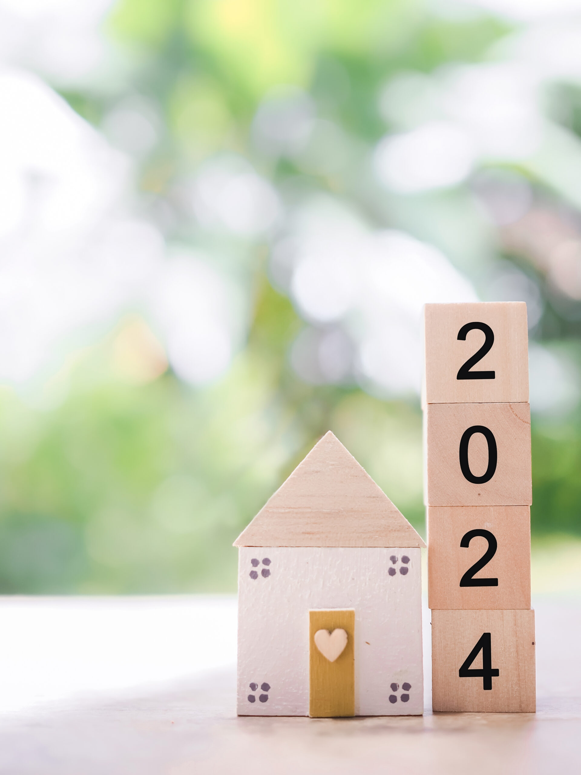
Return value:
M 328 429 L 423 529 L 427 301 L 526 301 L 579 546 L 579 43 L 576 0 L 0 0 L 0 589 L 232 590 Z

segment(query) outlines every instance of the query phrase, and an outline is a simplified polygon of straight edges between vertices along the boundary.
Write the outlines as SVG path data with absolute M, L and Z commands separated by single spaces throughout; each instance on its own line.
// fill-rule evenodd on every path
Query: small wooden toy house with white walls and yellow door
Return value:
M 328 432 L 236 539 L 239 715 L 421 715 L 421 537 Z

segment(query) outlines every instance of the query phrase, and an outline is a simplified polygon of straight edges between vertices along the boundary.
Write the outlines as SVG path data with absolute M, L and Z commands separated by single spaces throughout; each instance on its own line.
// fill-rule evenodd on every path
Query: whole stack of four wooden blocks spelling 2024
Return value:
M 433 708 L 535 711 L 526 305 L 426 305 L 423 405 Z

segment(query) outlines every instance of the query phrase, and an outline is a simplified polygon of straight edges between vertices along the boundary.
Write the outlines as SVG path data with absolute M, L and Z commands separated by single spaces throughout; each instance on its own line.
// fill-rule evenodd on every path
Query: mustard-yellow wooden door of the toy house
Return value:
M 325 631 L 329 633 L 328 639 L 320 636 L 315 639 L 318 633 L 322 635 Z M 346 643 L 339 644 L 342 646 L 339 651 L 332 648 L 335 646 L 332 641 L 342 641 L 337 637 L 341 633 L 346 633 L 347 638 Z M 352 608 L 309 611 L 308 715 L 325 718 L 355 715 L 354 643 L 355 611 Z M 335 656 L 337 651 L 339 655 Z

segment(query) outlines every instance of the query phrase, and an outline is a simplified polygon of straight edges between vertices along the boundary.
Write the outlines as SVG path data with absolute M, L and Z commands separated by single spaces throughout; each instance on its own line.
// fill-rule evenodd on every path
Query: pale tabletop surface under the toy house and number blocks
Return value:
M 538 596 L 536 714 L 235 715 L 235 598 L 0 598 L 0 773 L 581 773 L 581 597 Z

